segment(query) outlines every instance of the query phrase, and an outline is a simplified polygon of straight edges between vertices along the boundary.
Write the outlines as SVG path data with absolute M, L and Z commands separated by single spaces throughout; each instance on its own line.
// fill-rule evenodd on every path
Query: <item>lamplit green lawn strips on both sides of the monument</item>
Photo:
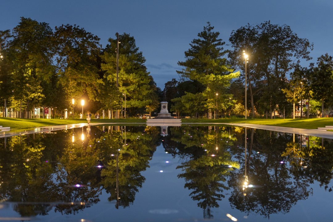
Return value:
M 85 119 L 20 119 L 0 117 L 0 125 L 9 126 L 12 130 L 28 129 L 33 127 L 64 125 L 73 123 L 86 123 Z M 92 119 L 91 122 L 112 122 L 112 123 L 144 123 L 145 119 Z M 274 125 L 295 127 L 303 129 L 316 129 L 333 125 L 333 118 L 311 118 L 311 119 L 182 119 L 182 123 L 252 123 L 261 125 Z

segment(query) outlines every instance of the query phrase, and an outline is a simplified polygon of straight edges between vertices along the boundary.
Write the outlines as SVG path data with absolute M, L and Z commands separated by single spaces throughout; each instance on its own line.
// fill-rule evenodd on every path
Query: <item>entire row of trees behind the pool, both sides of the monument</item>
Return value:
M 179 79 L 165 83 L 162 92 L 130 34 L 116 33 L 102 48 L 96 35 L 77 25 L 52 29 L 22 17 L 12 30 L 0 31 L 2 110 L 28 117 L 27 110 L 54 108 L 55 117 L 62 117 L 68 109 L 78 117 L 83 99 L 85 111 L 135 117 L 157 111 L 164 99 L 177 116 L 244 116 L 245 76 L 252 118 L 301 116 L 295 110 L 316 116 L 332 106 L 332 57 L 325 54 L 302 67 L 301 61 L 312 59 L 313 44 L 289 26 L 247 24 L 232 31 L 232 50 L 223 48 L 219 34 L 208 22 L 184 52 L 185 61 L 178 62 Z M 246 75 L 243 53 L 248 56 Z

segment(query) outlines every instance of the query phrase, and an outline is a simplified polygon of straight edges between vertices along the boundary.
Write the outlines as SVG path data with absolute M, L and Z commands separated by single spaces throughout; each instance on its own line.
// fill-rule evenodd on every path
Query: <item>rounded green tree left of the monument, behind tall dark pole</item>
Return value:
M 118 90 L 120 95 L 126 93 L 127 112 L 135 115 L 153 104 L 151 97 L 156 93 L 156 85 L 151 84 L 152 78 L 144 64 L 146 59 L 136 46 L 134 37 L 124 33 L 119 35 L 119 42 Z M 109 81 L 108 85 L 112 87 L 117 83 L 117 38 L 110 38 L 109 43 L 101 56 L 101 67 L 105 71 L 105 81 Z M 117 109 L 120 105 L 118 103 Z

